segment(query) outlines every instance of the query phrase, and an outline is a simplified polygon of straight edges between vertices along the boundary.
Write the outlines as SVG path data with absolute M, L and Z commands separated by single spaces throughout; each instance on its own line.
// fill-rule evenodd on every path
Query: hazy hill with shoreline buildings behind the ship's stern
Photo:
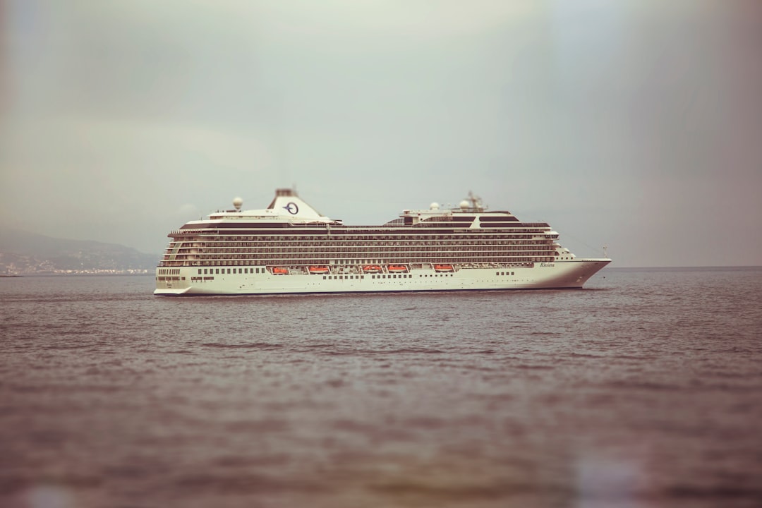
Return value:
M 150 273 L 158 256 L 120 244 L 0 229 L 0 273 Z

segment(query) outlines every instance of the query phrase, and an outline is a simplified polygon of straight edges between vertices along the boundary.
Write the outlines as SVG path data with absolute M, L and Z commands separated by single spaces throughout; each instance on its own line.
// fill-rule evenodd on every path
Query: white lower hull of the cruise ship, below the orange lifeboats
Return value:
M 172 276 L 157 270 L 155 295 L 282 295 L 299 293 L 580 289 L 610 259 L 575 259 L 520 267 L 456 267 L 440 273 L 413 267 L 408 273 L 360 273 L 356 267 L 331 267 L 331 273 L 301 270 L 272 273 L 266 267 L 199 269 L 181 267 Z M 216 273 L 204 273 L 205 270 Z M 222 272 L 222 273 L 219 273 Z

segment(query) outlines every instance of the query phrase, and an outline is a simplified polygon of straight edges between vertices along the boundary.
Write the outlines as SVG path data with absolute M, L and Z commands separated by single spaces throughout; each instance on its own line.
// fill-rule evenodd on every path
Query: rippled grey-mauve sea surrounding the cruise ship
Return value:
M 0 279 L 0 506 L 762 506 L 762 267 L 153 289 Z

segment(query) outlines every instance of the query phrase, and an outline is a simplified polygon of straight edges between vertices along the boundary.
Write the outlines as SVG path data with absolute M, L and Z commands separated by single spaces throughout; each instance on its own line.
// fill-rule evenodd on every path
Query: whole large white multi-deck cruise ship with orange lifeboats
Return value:
M 581 288 L 611 262 L 575 257 L 548 224 L 490 211 L 472 193 L 384 225 L 344 225 L 293 189 L 265 209 L 242 203 L 169 233 L 155 295 Z

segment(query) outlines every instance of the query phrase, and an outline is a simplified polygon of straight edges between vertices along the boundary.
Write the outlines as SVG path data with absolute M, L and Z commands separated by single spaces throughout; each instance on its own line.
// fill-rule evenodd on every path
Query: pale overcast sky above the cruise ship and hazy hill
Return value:
M 160 254 L 296 187 L 473 191 L 620 267 L 762 265 L 762 2 L 0 0 L 0 225 Z

